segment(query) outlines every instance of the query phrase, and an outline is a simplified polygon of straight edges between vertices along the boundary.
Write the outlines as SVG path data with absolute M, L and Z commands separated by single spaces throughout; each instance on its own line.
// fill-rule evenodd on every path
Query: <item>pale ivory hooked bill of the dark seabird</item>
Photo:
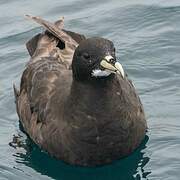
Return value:
M 107 71 L 111 73 L 121 74 L 124 78 L 124 69 L 119 62 L 112 63 L 111 60 L 114 59 L 112 56 L 106 56 L 101 62 L 100 65 Z

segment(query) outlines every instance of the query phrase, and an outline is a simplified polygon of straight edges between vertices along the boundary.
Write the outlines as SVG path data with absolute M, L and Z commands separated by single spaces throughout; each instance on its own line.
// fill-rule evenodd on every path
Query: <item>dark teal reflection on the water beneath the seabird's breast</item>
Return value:
M 16 152 L 14 156 L 16 156 L 18 164 L 24 164 L 53 179 L 148 179 L 148 174 L 151 172 L 144 170 L 149 161 L 149 157 L 144 154 L 148 139 L 149 137 L 146 136 L 141 146 L 131 156 L 115 161 L 111 165 L 96 168 L 76 167 L 56 160 L 42 152 L 28 137 L 25 138 L 24 142 L 25 152 Z

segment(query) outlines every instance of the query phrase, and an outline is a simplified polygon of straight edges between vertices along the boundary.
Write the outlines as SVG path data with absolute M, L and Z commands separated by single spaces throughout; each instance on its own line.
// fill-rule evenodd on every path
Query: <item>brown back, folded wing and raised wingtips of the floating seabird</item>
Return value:
M 47 30 L 26 44 L 31 58 L 23 72 L 20 91 L 14 87 L 16 108 L 25 132 L 40 147 L 48 149 L 50 143 L 62 144 L 60 131 L 67 125 L 63 122 L 62 112 L 72 84 L 72 57 L 76 46 L 85 37 L 62 30 L 61 20 L 54 25 L 32 18 L 45 25 Z M 56 34 L 52 32 L 54 29 Z

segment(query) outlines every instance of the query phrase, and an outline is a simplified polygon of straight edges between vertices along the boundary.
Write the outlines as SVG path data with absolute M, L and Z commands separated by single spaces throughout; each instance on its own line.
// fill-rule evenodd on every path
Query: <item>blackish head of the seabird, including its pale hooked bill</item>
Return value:
M 116 73 L 124 78 L 113 42 L 104 38 L 89 38 L 79 44 L 74 52 L 72 71 L 77 80 L 104 79 Z

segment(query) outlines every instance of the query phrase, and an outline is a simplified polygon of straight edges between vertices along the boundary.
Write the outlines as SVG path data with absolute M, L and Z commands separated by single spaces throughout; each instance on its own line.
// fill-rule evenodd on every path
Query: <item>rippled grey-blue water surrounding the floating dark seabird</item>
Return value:
M 64 164 L 41 152 L 20 131 L 12 84 L 19 83 L 29 56 L 25 42 L 42 29 L 24 14 L 67 29 L 103 36 L 138 89 L 148 133 L 131 156 L 98 168 Z M 180 1 L 0 0 L 0 180 L 179 180 L 180 178 Z M 8 145 L 20 134 L 23 147 Z

